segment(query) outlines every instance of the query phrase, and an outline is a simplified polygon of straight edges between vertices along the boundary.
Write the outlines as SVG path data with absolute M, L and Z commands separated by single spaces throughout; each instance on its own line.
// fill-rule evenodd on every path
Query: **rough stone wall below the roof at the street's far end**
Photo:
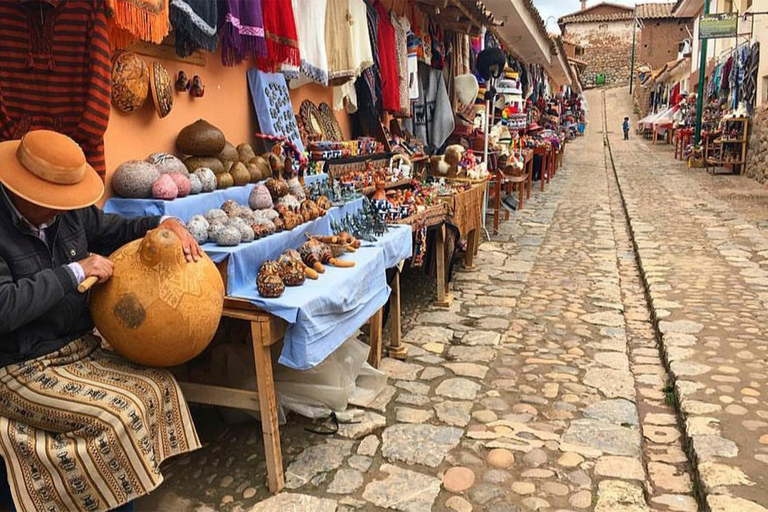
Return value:
M 605 85 L 629 82 L 632 60 L 632 21 L 573 23 L 565 34 L 584 48 L 579 59 L 587 63 L 582 74 L 584 87 L 595 87 L 597 75 L 605 75 Z

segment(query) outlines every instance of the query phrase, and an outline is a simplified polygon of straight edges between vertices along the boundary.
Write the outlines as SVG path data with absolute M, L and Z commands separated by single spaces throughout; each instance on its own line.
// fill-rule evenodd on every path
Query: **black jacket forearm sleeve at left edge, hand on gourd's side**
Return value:
M 8 264 L 0 258 L 0 334 L 40 318 L 76 289 L 75 276 L 66 266 L 14 281 Z

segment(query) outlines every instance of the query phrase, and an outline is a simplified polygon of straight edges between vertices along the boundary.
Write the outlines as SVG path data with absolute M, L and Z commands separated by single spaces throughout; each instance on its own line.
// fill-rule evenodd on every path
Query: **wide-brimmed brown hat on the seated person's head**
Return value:
M 0 183 L 22 199 L 54 210 L 85 208 L 104 194 L 104 183 L 80 146 L 49 130 L 0 142 Z

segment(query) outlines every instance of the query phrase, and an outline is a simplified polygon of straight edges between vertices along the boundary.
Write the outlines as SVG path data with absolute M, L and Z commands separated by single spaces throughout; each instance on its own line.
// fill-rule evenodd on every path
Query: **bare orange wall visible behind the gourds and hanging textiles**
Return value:
M 205 96 L 193 98 L 189 93 L 174 93 L 173 109 L 160 119 L 154 110 L 152 98 L 131 114 L 123 114 L 114 108 L 109 120 L 104 146 L 107 160 L 108 180 L 111 172 L 122 162 L 144 159 L 155 151 L 175 153 L 176 134 L 184 126 L 205 119 L 220 128 L 227 140 L 234 145 L 241 142 L 254 143 L 256 115 L 253 111 L 246 71 L 251 67 L 245 63 L 235 67 L 224 67 L 218 53 L 206 56 L 206 65 L 197 66 L 173 60 L 161 60 L 173 80 L 183 70 L 192 79 L 200 75 L 205 85 Z M 144 56 L 151 65 L 152 59 Z M 291 91 L 294 111 L 298 112 L 304 99 L 315 104 L 323 101 L 333 105 L 333 90 L 318 85 L 305 85 Z M 349 116 L 343 111 L 336 112 L 346 138 L 350 137 Z M 107 195 L 111 194 L 108 187 Z

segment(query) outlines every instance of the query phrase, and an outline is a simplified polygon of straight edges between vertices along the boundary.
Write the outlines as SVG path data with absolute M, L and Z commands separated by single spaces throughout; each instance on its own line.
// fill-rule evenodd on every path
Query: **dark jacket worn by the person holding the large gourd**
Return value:
M 87 294 L 67 265 L 109 256 L 160 217 L 125 219 L 92 206 L 59 215 L 43 242 L 0 190 L 0 367 L 49 354 L 93 329 Z

